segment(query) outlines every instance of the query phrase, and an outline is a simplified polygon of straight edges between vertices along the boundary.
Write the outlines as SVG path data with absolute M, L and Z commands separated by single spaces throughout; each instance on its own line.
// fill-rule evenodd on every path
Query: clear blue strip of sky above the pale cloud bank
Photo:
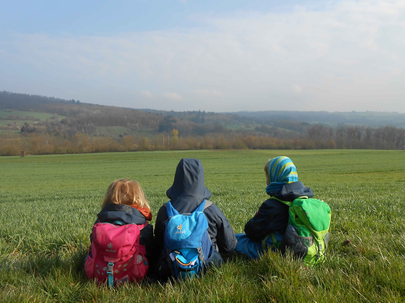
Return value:
M 79 35 L 166 30 L 200 26 L 198 15 L 223 16 L 248 11 L 289 10 L 285 1 L 9 1 L 2 4 L 0 26 L 21 33 Z M 313 3 L 316 5 L 316 3 Z M 195 18 L 194 18 L 195 17 Z

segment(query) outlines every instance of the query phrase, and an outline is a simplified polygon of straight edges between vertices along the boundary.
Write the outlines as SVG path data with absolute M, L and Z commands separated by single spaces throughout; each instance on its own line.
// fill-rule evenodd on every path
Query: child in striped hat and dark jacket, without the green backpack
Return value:
M 290 158 L 276 157 L 264 166 L 266 193 L 256 215 L 245 225 L 245 233 L 236 234 L 236 251 L 256 259 L 269 247 L 274 251 L 286 231 L 289 206 L 282 201 L 293 201 L 300 196 L 313 197 L 310 188 L 298 181 L 297 169 Z

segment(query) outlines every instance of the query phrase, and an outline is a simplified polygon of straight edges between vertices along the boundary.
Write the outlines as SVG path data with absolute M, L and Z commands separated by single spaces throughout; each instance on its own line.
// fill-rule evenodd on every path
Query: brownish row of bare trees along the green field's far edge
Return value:
M 0 156 L 18 156 L 24 150 L 29 155 L 102 153 L 111 151 L 186 150 L 186 149 L 404 149 L 405 129 L 394 126 L 357 129 L 331 129 L 310 126 L 301 138 L 211 133 L 204 136 L 181 136 L 171 133 L 154 136 L 123 136 L 121 138 L 90 137 L 83 133 L 59 136 L 30 132 L 0 135 Z

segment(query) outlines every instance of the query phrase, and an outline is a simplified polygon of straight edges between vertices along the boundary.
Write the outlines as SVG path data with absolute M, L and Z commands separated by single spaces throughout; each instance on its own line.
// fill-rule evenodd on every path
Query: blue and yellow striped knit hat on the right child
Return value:
M 298 181 L 297 169 L 290 158 L 280 156 L 273 158 L 267 165 L 267 175 L 270 184 L 266 187 L 266 192 L 278 191 L 282 185 Z

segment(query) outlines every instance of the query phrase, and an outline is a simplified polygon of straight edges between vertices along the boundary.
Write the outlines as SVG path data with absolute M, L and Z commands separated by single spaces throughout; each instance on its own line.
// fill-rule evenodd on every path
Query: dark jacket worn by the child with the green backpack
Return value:
M 274 196 L 283 201 L 293 201 L 300 196 L 313 197 L 312 189 L 305 187 L 301 181 L 282 185 L 277 192 L 271 192 Z M 288 225 L 289 206 L 269 198 L 263 202 L 256 215 L 245 225 L 246 235 L 254 241 L 262 241 L 268 234 L 277 231 L 284 235 Z

